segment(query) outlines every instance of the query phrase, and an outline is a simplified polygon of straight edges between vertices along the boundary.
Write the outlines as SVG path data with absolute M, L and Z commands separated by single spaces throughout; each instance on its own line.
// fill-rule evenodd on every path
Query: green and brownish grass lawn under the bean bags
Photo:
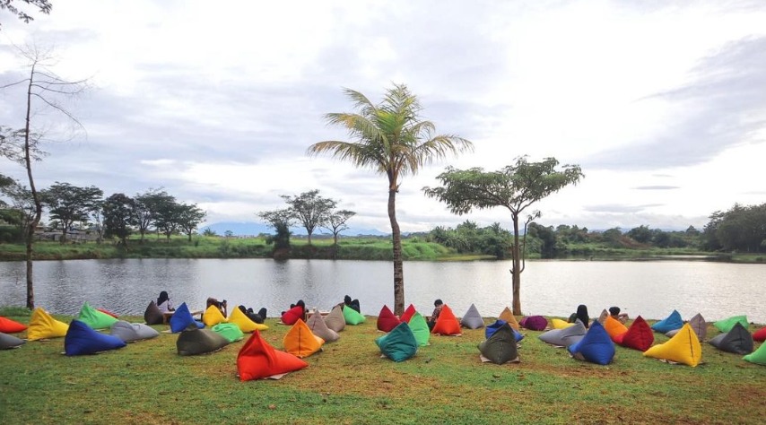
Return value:
M 245 340 L 192 357 L 178 356 L 178 334 L 78 357 L 62 354 L 63 338 L 28 342 L 0 351 L 0 423 L 730 424 L 763 423 L 766 415 L 766 367 L 708 343 L 696 368 L 619 346 L 612 364 L 598 366 L 523 331 L 521 362 L 498 366 L 479 360 L 478 329 L 431 335 L 431 345 L 396 363 L 380 358 L 375 322 L 347 325 L 340 340 L 306 359 L 309 368 L 248 382 L 236 376 Z M 266 325 L 261 334 L 282 349 L 289 326 Z

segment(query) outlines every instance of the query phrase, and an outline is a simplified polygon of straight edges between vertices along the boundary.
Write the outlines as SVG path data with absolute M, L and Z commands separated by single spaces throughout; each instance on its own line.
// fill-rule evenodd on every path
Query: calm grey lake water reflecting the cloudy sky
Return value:
M 471 303 L 485 317 L 510 306 L 510 262 L 405 263 L 405 305 L 430 314 L 443 299 L 457 316 Z M 393 308 L 389 262 L 269 259 L 145 259 L 43 261 L 34 265 L 36 305 L 76 315 L 88 301 L 119 314 L 143 315 L 149 301 L 169 291 L 178 306 L 201 308 L 209 296 L 268 309 L 278 316 L 292 302 L 329 309 L 345 294 L 361 300 L 363 314 Z M 0 263 L 0 305 L 24 305 L 22 262 Z M 569 316 L 586 304 L 590 316 L 617 305 L 631 317 L 707 320 L 747 315 L 766 323 L 766 265 L 698 261 L 527 262 L 521 276 L 525 314 Z M 761 302 L 759 302 L 759 300 Z

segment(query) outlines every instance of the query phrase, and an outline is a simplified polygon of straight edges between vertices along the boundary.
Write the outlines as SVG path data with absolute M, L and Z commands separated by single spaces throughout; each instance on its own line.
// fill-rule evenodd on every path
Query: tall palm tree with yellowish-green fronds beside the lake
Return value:
M 388 219 L 394 245 L 394 312 L 405 311 L 405 273 L 402 235 L 396 221 L 396 192 L 399 178 L 416 174 L 424 165 L 448 153 L 472 150 L 473 144 L 454 134 L 435 133 L 431 121 L 421 120 L 417 97 L 405 84 L 395 84 L 383 100 L 373 104 L 359 91 L 344 89 L 357 113 L 326 114 L 327 124 L 344 126 L 354 142 L 328 140 L 309 146 L 308 153 L 329 152 L 358 168 L 370 168 L 388 178 Z

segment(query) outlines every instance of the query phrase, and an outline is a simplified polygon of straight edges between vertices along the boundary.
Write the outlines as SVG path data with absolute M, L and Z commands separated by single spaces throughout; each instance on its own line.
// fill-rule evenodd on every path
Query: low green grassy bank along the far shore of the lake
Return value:
M 0 261 L 23 261 L 23 244 L 0 244 Z M 485 254 L 458 253 L 456 249 L 436 242 L 424 241 L 419 237 L 402 241 L 406 261 L 476 261 L 496 260 L 496 256 Z M 553 258 L 556 260 L 695 260 L 720 261 L 728 263 L 766 264 L 766 256 L 747 253 L 706 252 L 694 248 L 660 247 L 606 247 L 597 244 L 574 246 L 574 254 Z M 340 239 L 338 245 L 332 239 L 315 237 L 309 245 L 306 239 L 292 237 L 291 247 L 274 251 L 274 245 L 267 243 L 267 237 L 220 237 L 198 236 L 189 241 L 186 237 L 170 240 L 149 237 L 140 242 L 130 239 L 126 245 L 112 241 L 94 241 L 61 244 L 57 241 L 37 241 L 34 245 L 34 260 L 79 260 L 110 258 L 275 258 L 275 259 L 339 259 L 391 261 L 391 240 L 387 237 L 356 237 Z M 528 260 L 540 259 L 537 253 L 527 253 Z

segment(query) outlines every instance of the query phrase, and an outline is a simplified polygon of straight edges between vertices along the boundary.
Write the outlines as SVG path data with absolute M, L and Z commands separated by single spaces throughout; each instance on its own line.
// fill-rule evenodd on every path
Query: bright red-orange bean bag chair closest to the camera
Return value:
M 279 379 L 307 366 L 309 363 L 289 352 L 274 350 L 259 331 L 250 336 L 237 355 L 237 371 L 239 380 L 243 382 L 266 377 Z

